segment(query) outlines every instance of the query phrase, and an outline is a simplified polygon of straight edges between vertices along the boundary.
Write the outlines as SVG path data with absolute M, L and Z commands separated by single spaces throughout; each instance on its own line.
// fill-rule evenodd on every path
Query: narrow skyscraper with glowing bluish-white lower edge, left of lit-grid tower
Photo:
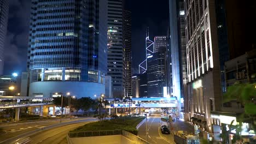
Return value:
M 180 87 L 180 94 L 181 99 L 184 99 L 184 103 L 187 103 L 187 82 L 188 82 L 188 76 L 187 76 L 187 54 L 186 54 L 186 42 L 185 42 L 185 11 L 184 11 L 184 1 L 183 0 L 175 0 L 175 2 L 172 2 L 173 7 L 170 8 L 170 20 L 171 23 L 171 53 L 174 52 L 173 56 L 171 57 L 173 63 L 173 67 L 176 69 L 173 70 L 173 88 L 174 93 L 177 94 L 176 87 L 178 85 L 178 79 L 179 77 L 179 87 Z M 174 24 L 175 23 L 175 24 Z M 177 29 L 177 32 L 175 32 Z M 173 34 L 177 34 L 177 36 L 173 36 Z M 178 59 L 177 59 L 178 58 Z M 175 86 L 176 85 L 176 86 Z M 175 92 L 176 91 L 176 92 Z M 176 94 L 173 94 L 176 96 Z M 182 100 L 181 100 L 182 101 Z M 185 106 L 185 107 L 184 107 Z M 187 112 L 187 105 L 181 104 L 181 110 L 185 110 Z M 187 106 L 187 107 L 186 107 Z

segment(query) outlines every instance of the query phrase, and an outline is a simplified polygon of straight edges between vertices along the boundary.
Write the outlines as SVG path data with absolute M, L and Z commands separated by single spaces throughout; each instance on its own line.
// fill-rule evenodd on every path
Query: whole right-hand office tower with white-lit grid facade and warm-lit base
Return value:
M 210 113 L 222 107 L 216 4 L 185 0 L 184 5 L 189 117 L 205 121 L 212 131 Z

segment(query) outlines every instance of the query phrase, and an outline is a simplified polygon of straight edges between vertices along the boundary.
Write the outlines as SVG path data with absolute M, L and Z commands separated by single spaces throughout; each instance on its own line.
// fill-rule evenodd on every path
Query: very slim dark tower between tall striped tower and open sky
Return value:
M 132 68 L 131 68 L 131 12 L 124 10 L 125 32 L 125 95 L 132 95 Z

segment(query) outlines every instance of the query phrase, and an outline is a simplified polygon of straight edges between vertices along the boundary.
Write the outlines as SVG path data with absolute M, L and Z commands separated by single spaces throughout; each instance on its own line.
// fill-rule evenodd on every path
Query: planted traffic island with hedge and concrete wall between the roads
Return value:
M 137 136 L 144 117 L 122 117 L 88 123 L 69 131 L 68 143 L 149 143 Z

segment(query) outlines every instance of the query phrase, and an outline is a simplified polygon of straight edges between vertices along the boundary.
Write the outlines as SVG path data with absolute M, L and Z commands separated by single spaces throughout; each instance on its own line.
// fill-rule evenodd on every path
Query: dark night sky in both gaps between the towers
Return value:
M 30 20 L 30 0 L 9 0 L 8 33 L 5 40 L 4 74 L 26 71 L 27 41 Z M 125 9 L 132 12 L 132 67 L 145 57 L 146 28 L 150 39 L 166 35 L 168 0 L 126 0 Z

